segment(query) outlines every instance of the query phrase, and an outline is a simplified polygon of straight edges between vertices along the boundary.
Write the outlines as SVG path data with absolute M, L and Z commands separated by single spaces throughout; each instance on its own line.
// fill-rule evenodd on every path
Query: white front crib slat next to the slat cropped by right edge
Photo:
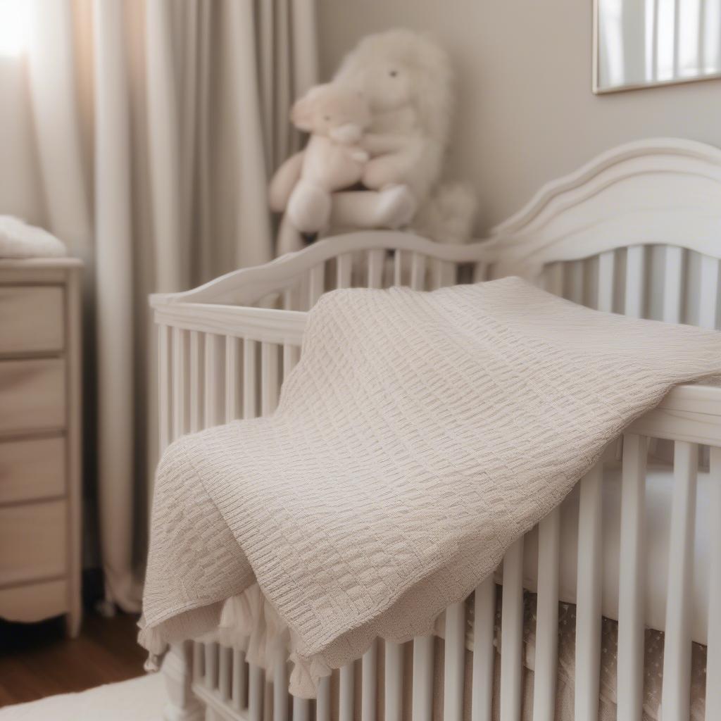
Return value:
M 663 644 L 663 721 L 689 718 L 691 705 L 691 581 L 699 447 L 676 441 Z

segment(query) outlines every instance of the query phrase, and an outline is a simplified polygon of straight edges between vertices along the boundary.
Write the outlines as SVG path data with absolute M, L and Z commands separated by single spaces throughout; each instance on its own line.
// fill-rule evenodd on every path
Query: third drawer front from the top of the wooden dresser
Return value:
M 65 438 L 0 441 L 0 504 L 65 494 Z

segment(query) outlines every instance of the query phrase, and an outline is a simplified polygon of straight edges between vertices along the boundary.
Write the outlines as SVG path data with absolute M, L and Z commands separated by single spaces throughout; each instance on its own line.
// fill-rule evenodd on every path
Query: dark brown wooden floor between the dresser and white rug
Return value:
M 136 642 L 137 620 L 88 614 L 74 640 L 66 639 L 62 619 L 0 620 L 0 707 L 141 676 L 146 655 Z

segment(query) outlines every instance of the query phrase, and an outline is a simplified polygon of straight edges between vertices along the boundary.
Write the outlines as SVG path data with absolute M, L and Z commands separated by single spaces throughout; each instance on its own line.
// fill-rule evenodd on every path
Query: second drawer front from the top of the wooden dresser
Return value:
M 0 361 L 0 433 L 65 426 L 65 361 Z

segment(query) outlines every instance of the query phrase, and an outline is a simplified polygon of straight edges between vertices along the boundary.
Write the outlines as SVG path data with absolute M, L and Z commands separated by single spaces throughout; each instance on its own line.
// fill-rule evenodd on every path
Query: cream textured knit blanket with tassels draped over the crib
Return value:
M 257 583 L 312 696 L 374 637 L 430 632 L 632 420 L 720 374 L 721 333 L 518 278 L 327 293 L 273 415 L 164 453 L 141 642 L 207 632 Z

